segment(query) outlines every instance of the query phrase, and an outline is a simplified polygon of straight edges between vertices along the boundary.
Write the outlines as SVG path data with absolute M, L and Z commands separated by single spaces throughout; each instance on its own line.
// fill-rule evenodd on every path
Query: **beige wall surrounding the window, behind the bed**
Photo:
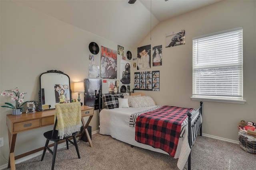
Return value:
M 212 137 L 238 141 L 237 125 L 240 120 L 256 122 L 256 1 L 224 0 L 159 23 L 138 47 L 163 45 L 165 33 L 186 30 L 186 44 L 163 48 L 160 70 L 160 92 L 144 91 L 157 104 L 182 107 L 199 106 L 192 101 L 192 38 L 200 35 L 243 27 L 244 47 L 244 100 L 245 104 L 204 102 L 203 133 Z M 136 49 L 133 55 L 136 54 Z M 132 70 L 135 72 L 136 70 Z

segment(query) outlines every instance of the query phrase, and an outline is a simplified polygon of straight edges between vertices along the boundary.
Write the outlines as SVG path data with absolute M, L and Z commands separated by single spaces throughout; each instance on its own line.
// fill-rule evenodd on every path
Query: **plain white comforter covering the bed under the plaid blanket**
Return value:
M 115 108 L 115 109 L 102 109 L 100 111 L 100 134 L 110 135 L 111 137 L 118 139 L 119 141 L 128 143 L 130 145 L 152 150 L 155 152 L 160 152 L 168 154 L 167 152 L 153 148 L 149 145 L 138 143 L 135 141 L 135 127 L 130 127 L 130 115 L 132 113 L 144 111 L 146 109 L 151 109 L 152 107 L 140 107 L 140 108 Z M 174 158 L 179 158 L 177 166 L 179 169 L 183 169 L 188 156 L 190 154 L 190 147 L 188 144 L 188 126 L 186 126 L 186 131 L 183 139 L 180 138 L 178 142 L 178 147 Z

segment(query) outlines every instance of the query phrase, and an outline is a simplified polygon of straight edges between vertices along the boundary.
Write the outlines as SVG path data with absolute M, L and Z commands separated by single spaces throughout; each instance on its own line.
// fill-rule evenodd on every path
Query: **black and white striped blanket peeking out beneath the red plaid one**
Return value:
M 153 107 L 153 108 L 151 108 L 151 109 L 147 109 L 147 110 L 144 110 L 144 111 L 140 111 L 140 112 L 138 112 L 138 113 L 132 113 L 131 116 L 130 116 L 129 125 L 130 125 L 131 127 L 135 127 L 136 120 L 137 120 L 137 117 L 138 117 L 139 115 L 141 115 L 141 114 L 143 114 L 143 113 L 147 113 L 147 112 L 149 112 L 149 111 L 153 111 L 153 110 L 159 109 L 160 107 L 162 107 L 162 106 L 159 105 L 159 106 Z M 194 122 L 194 119 L 195 119 L 195 118 L 197 117 L 197 115 L 198 115 L 198 114 L 196 114 L 196 113 L 197 113 L 197 112 L 196 112 L 196 109 L 193 109 L 191 113 L 192 113 L 192 116 L 191 116 L 192 122 Z M 201 119 L 200 121 L 202 122 L 202 118 L 200 118 L 200 119 Z M 180 138 L 183 138 L 183 135 L 184 135 L 185 129 L 186 129 L 186 125 L 188 125 L 188 117 L 187 117 L 187 118 L 182 122 L 182 124 L 181 124 Z

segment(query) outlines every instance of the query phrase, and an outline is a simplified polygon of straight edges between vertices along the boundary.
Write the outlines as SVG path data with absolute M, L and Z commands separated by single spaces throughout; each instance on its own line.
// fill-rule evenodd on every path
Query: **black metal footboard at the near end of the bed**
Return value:
M 196 141 L 196 136 L 198 134 L 198 131 L 200 131 L 200 136 L 202 136 L 202 120 L 200 117 L 202 117 L 202 105 L 203 102 L 200 102 L 200 107 L 196 110 L 199 111 L 200 114 L 192 121 L 192 113 L 188 113 L 188 143 L 189 147 L 194 145 Z M 188 170 L 191 170 L 191 151 L 188 156 Z

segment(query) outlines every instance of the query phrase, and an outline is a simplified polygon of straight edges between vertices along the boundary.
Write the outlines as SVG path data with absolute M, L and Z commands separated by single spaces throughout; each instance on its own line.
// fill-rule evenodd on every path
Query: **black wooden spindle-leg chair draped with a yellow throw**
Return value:
M 79 103 L 79 105 L 75 104 L 75 103 Z M 74 105 L 74 104 L 76 106 L 73 106 L 73 107 L 78 107 L 80 109 L 80 111 L 81 111 L 81 104 L 80 104 L 80 102 L 69 103 L 69 105 Z M 60 105 L 65 105 L 65 104 L 60 104 Z M 58 107 L 56 107 L 56 112 L 57 112 L 57 109 L 58 109 Z M 81 120 L 81 112 L 79 114 L 80 114 L 80 120 Z M 72 116 L 72 115 L 74 116 L 74 113 L 69 113 L 69 115 L 70 116 Z M 55 122 L 54 122 L 53 130 L 52 131 L 47 131 L 47 132 L 44 133 L 44 137 L 46 138 L 46 143 L 45 143 L 44 152 L 43 152 L 42 158 L 41 158 L 41 161 L 42 161 L 44 159 L 44 155 L 45 155 L 45 152 L 46 152 L 46 149 L 47 149 L 52 154 L 52 170 L 54 170 L 54 164 L 55 164 L 55 159 L 56 159 L 56 152 L 57 152 L 57 147 L 58 147 L 58 142 L 59 141 L 66 140 L 67 149 L 69 149 L 68 148 L 69 143 L 74 145 L 76 147 L 76 152 L 77 152 L 78 158 L 80 158 L 80 154 L 79 154 L 79 150 L 78 150 L 78 145 L 77 145 L 77 141 L 76 141 L 76 133 L 78 131 L 72 133 L 71 135 L 63 137 L 63 139 L 60 139 L 59 134 L 58 134 L 58 130 L 55 130 L 56 129 L 56 125 L 57 125 L 57 118 L 58 118 L 58 116 L 56 116 L 56 113 L 55 113 L 55 117 L 56 117 L 56 119 L 55 119 Z M 70 141 L 69 138 L 71 138 L 71 137 L 72 137 L 74 142 Z M 53 151 L 48 147 L 49 141 L 54 141 L 54 149 L 53 149 Z

